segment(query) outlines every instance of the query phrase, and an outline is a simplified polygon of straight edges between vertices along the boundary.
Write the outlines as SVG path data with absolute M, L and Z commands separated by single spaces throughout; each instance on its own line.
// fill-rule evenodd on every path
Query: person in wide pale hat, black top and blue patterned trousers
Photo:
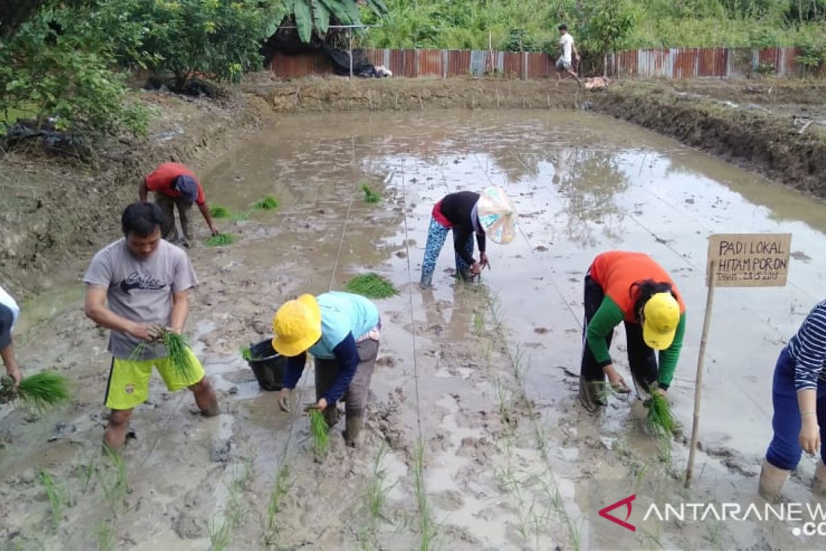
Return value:
M 491 267 L 487 259 L 486 237 L 506 245 L 516 235 L 516 210 L 501 188 L 487 188 L 482 193 L 449 193 L 437 202 L 427 230 L 425 259 L 421 263 L 421 288 L 430 287 L 436 260 L 453 230 L 453 251 L 456 256 L 456 277 L 465 281 Z M 473 236 L 479 245 L 479 260 L 473 258 Z

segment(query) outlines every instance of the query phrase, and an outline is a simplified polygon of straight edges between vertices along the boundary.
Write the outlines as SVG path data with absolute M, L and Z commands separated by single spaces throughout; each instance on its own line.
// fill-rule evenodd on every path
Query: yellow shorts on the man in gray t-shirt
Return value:
M 106 406 L 112 410 L 131 410 L 146 401 L 150 394 L 152 366 L 158 368 L 170 392 L 190 387 L 204 378 L 204 368 L 197 356 L 188 349 L 189 373 L 183 375 L 167 358 L 132 361 L 112 358 L 109 382 L 106 387 Z

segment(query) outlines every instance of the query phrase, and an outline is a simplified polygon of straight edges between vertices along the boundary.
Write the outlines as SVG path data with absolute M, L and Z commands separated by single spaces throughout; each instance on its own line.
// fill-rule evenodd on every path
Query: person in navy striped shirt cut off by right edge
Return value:
M 767 500 L 780 495 L 800 455 L 820 451 L 814 491 L 826 494 L 826 301 L 820 302 L 781 350 L 771 384 L 774 437 L 760 471 L 759 492 Z

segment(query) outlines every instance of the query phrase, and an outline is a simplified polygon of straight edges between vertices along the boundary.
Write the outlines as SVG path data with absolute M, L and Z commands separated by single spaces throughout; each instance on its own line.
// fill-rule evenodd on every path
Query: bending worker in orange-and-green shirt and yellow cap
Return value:
M 686 306 L 672 278 L 648 254 L 603 253 L 586 273 L 579 398 L 588 411 L 605 406 L 601 391 L 606 376 L 615 392 L 630 392 L 608 353 L 611 336 L 621 322 L 637 387 L 644 392 L 652 392 L 652 387 L 665 392 L 680 358 Z

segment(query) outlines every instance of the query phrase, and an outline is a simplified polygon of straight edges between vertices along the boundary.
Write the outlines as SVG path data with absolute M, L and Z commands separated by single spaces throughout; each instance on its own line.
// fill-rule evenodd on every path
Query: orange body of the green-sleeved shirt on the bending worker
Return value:
M 634 315 L 634 302 L 637 297 L 632 295 L 631 286 L 646 279 L 653 279 L 657 283 L 671 283 L 676 302 L 680 305 L 680 313 L 686 311 L 686 305 L 683 304 L 682 296 L 671 276 L 648 254 L 622 250 L 602 253 L 591 264 L 591 279 L 602 287 L 606 297 L 610 297 L 619 306 L 625 315 L 625 321 L 637 322 Z

